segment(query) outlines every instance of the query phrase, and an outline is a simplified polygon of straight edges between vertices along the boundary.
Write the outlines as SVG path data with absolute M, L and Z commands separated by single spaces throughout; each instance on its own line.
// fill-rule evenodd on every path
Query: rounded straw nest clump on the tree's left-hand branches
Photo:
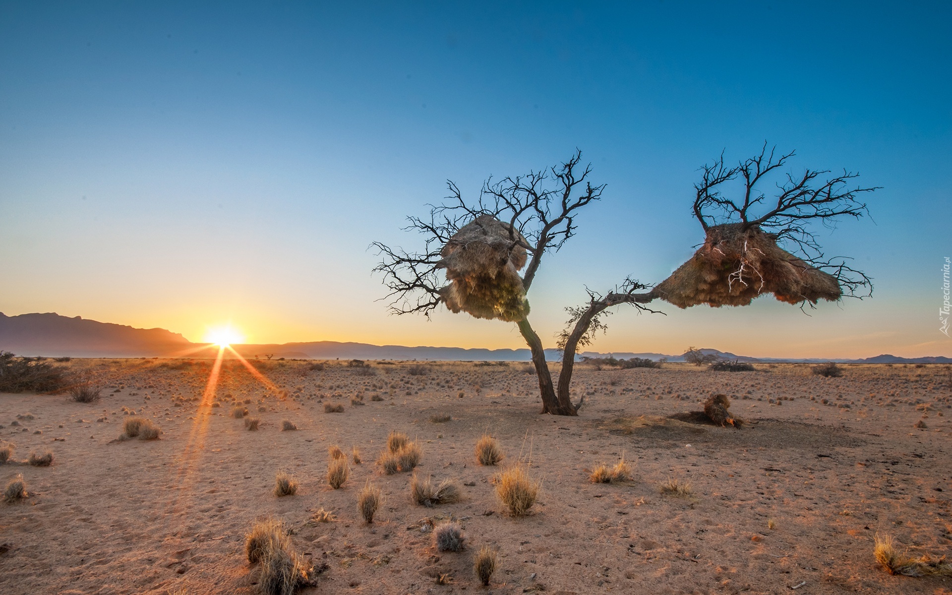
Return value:
M 510 233 L 511 231 L 511 233 Z M 480 215 L 446 242 L 439 268 L 449 285 L 440 290 L 453 312 L 516 322 L 528 314 L 519 269 L 526 266 L 526 238 L 491 215 Z

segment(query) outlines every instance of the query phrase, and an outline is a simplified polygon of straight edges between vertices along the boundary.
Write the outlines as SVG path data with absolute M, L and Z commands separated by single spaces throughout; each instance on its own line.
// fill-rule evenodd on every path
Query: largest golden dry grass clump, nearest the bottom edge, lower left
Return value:
M 258 588 L 266 595 L 291 595 L 297 588 L 314 584 L 314 568 L 294 551 L 280 521 L 257 523 L 245 542 L 250 564 L 258 568 Z

